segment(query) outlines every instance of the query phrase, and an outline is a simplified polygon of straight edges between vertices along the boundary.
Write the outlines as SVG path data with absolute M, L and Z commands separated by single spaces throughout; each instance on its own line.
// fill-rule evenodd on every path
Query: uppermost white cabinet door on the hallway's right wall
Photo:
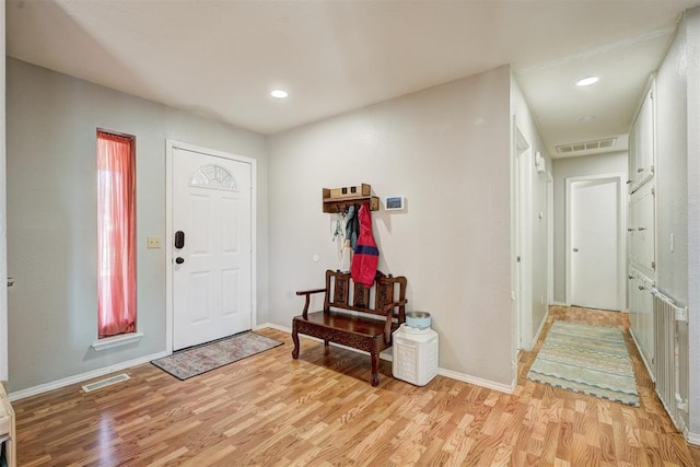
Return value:
M 630 192 L 654 176 L 656 153 L 654 85 L 650 86 L 629 135 Z

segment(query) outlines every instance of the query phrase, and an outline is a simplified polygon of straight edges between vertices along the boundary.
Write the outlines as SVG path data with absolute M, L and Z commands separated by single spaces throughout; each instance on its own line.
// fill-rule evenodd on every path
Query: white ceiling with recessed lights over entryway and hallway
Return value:
M 7 54 L 264 135 L 512 63 L 557 155 L 626 147 L 649 74 L 699 4 L 8 0 Z M 600 81 L 576 87 L 586 75 Z

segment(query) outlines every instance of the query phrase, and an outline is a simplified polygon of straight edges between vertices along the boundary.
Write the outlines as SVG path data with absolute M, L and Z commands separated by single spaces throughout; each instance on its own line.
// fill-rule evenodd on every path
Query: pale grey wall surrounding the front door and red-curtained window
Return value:
M 267 310 L 265 139 L 14 59 L 7 63 L 10 389 L 165 350 L 165 140 L 258 160 L 258 320 Z M 94 352 L 95 129 L 136 136 L 138 345 Z

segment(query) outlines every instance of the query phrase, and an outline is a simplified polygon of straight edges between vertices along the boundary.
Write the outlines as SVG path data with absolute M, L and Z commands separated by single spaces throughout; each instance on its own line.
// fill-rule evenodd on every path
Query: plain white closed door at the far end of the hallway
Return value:
M 570 184 L 569 302 L 600 310 L 621 310 L 620 179 Z

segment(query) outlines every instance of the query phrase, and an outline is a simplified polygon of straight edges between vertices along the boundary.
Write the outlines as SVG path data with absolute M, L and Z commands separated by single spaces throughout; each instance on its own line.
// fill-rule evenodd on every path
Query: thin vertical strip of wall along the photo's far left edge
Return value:
M 4 90 L 4 0 L 0 2 L 0 90 Z M 8 276 L 4 94 L 0 94 L 0 281 Z M 8 289 L 0 287 L 0 382 L 4 381 L 8 381 Z

